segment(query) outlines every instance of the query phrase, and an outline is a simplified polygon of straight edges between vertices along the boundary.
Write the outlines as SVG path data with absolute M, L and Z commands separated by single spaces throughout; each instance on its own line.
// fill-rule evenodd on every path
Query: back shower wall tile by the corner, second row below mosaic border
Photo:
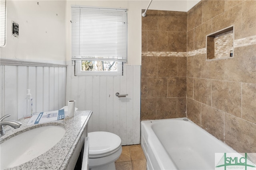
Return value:
M 167 97 L 186 97 L 186 88 L 186 77 L 168 77 Z

